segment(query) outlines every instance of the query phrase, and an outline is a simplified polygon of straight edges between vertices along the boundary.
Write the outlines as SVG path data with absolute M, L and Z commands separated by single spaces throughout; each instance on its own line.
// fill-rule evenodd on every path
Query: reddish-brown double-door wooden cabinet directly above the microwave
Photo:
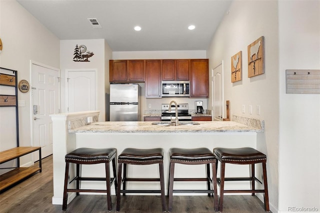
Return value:
M 162 60 L 162 80 L 189 80 L 188 59 Z

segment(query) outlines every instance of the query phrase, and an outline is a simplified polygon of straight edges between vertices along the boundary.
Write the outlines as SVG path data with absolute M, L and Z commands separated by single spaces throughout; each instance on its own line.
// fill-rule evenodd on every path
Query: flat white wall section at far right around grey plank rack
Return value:
M 285 93 L 285 69 L 320 69 L 320 1 L 279 1 L 278 5 L 278 209 L 317 207 L 320 211 L 320 94 Z

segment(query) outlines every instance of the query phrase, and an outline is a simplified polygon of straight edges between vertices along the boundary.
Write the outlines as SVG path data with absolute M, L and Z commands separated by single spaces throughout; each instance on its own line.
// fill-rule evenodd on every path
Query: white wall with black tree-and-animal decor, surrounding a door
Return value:
M 73 52 L 75 45 L 84 44 L 88 51 L 94 55 L 89 58 L 89 62 L 73 61 Z M 104 80 L 106 73 L 106 61 L 109 60 L 111 50 L 107 48 L 104 39 L 88 39 L 88 40 L 61 40 L 60 41 L 60 70 L 61 70 L 61 111 L 66 112 L 66 70 L 96 70 L 95 86 L 96 100 L 95 110 L 99 110 L 99 121 L 105 120 L 105 89 Z

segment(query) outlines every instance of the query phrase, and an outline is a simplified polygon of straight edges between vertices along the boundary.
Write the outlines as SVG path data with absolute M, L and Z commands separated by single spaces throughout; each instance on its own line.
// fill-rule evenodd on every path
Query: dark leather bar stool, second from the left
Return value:
M 132 165 L 148 165 L 148 164 L 159 164 L 159 175 L 160 178 L 136 178 L 126 176 L 127 164 Z M 121 178 L 123 164 L 123 177 Z M 159 181 L 160 190 L 153 189 L 126 189 L 125 183 L 127 181 Z M 121 189 L 121 182 L 122 189 Z M 120 193 L 161 193 L 162 200 L 162 211 L 166 209 L 165 197 L 164 197 L 164 174 L 163 174 L 163 149 L 162 148 L 150 148 L 150 149 L 139 149 L 139 148 L 125 148 L 118 156 L 118 185 L 116 192 L 116 210 L 120 210 Z

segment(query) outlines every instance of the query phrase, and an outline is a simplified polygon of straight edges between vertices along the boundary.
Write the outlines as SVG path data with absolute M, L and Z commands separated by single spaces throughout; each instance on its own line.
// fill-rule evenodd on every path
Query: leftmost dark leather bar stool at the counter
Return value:
M 64 174 L 64 189 L 62 210 L 66 210 L 67 192 L 103 192 L 106 193 L 107 207 L 111 211 L 111 184 L 114 182 L 116 191 L 116 166 L 115 166 L 115 148 L 77 148 L 65 155 L 65 174 Z M 110 177 L 110 161 L 112 160 L 113 177 Z M 69 163 L 76 164 L 76 176 L 70 181 L 76 180 L 76 188 L 67 188 Z M 80 164 L 97 164 L 105 163 L 105 177 L 81 177 L 79 165 Z M 80 189 L 80 181 L 106 181 L 106 189 Z

